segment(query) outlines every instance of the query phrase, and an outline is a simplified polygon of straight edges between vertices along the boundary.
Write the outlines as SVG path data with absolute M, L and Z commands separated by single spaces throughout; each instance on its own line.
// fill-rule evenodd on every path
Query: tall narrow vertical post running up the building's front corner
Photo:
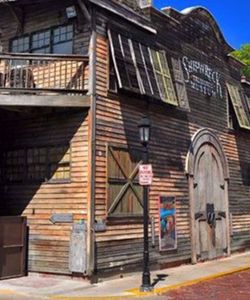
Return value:
M 91 277 L 95 270 L 95 170 L 96 170 L 96 11 L 91 7 L 91 38 L 89 45 L 89 161 L 88 161 L 88 203 L 87 203 L 87 270 Z

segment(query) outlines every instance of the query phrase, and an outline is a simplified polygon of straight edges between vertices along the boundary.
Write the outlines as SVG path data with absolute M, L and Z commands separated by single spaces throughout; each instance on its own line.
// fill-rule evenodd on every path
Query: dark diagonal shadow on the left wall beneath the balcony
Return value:
M 20 109 L 2 110 L 0 115 L 0 215 L 21 215 L 25 210 L 28 215 L 35 214 L 36 208 L 43 210 L 41 202 L 27 207 L 42 185 L 48 184 L 49 189 L 53 188 L 50 184 L 70 182 L 70 142 L 86 113 L 74 109 Z

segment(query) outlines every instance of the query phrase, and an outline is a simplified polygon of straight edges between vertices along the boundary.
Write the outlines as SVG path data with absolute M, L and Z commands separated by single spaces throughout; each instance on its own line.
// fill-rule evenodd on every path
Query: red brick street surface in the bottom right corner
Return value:
M 250 300 L 250 270 L 165 293 L 167 300 Z

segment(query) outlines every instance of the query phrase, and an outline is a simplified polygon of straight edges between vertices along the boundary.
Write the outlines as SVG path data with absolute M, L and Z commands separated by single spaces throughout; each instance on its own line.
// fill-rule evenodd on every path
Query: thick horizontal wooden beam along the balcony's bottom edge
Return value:
M 1 106 L 28 106 L 28 107 L 89 107 L 88 95 L 0 95 Z

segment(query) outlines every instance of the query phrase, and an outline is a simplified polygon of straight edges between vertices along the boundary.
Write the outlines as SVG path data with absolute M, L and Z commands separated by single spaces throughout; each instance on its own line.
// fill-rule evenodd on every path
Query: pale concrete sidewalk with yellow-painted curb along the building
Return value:
M 88 300 L 88 299 L 156 299 L 172 289 L 195 284 L 250 269 L 250 252 L 233 255 L 229 258 L 183 265 L 180 267 L 154 271 L 151 273 L 155 283 L 153 293 L 140 293 L 141 273 L 127 275 L 91 285 L 86 281 L 70 280 L 60 277 L 28 277 L 0 281 L 0 299 L 27 300 Z

